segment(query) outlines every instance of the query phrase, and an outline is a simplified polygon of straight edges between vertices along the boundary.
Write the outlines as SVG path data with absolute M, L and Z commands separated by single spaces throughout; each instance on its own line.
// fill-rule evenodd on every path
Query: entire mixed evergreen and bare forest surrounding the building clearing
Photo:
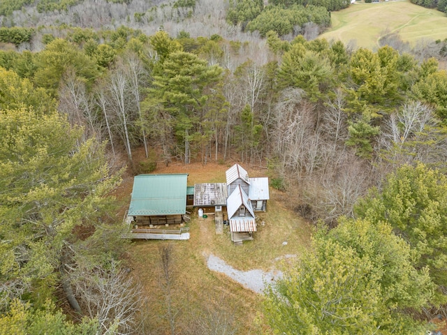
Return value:
M 265 334 L 447 317 L 446 43 L 318 39 L 346 6 L 1 1 L 0 334 L 142 334 L 114 192 L 179 162 L 261 167 L 314 226 Z

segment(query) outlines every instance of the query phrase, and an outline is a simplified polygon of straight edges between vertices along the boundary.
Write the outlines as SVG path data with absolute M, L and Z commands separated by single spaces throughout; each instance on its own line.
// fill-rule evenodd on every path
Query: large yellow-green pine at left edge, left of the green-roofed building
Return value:
M 17 298 L 34 304 L 32 310 L 11 305 L 24 309 L 15 315 L 13 308 L 1 322 L 8 323 L 13 315 L 21 315 L 23 322 L 28 322 L 27 318 L 37 322 L 39 310 L 54 297 L 59 283 L 68 300 L 75 301 L 68 265 L 76 264 L 77 255 L 85 259 L 85 246 L 93 255 L 99 252 L 96 260 L 89 256 L 94 264 L 113 255 L 114 237 L 104 234 L 108 229 L 101 228 L 101 218 L 111 208 L 108 193 L 119 177 L 108 169 L 104 145 L 94 139 L 82 141 L 82 128 L 71 128 L 55 110 L 38 112 L 32 106 L 0 110 L 0 139 L 0 311 L 8 311 Z M 90 237 L 82 237 L 82 241 L 77 234 L 81 227 L 93 228 Z M 104 230 L 100 245 L 96 244 L 95 229 Z M 108 251 L 101 249 L 104 239 Z M 37 316 L 33 319 L 23 313 Z M 41 315 L 42 320 L 57 318 L 61 325 L 71 327 L 59 312 L 48 313 Z M 31 328 L 22 331 L 34 334 Z

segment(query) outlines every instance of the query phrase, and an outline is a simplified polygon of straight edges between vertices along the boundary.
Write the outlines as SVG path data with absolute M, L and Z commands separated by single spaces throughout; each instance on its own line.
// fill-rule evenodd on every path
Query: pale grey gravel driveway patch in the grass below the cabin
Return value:
M 256 293 L 262 293 L 266 285 L 274 283 L 274 281 L 277 281 L 282 276 L 282 272 L 278 270 L 268 272 L 260 269 L 240 271 L 234 267 L 230 267 L 225 261 L 214 255 L 208 256 L 207 267 L 221 274 L 226 274 L 233 281 L 237 281 L 237 283 Z

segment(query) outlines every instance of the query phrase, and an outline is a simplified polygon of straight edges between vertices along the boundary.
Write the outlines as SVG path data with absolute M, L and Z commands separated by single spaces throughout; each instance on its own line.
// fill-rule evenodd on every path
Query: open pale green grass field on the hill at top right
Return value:
M 398 33 L 412 45 L 420 39 L 447 38 L 447 17 L 434 9 L 413 5 L 408 0 L 355 3 L 332 12 L 332 27 L 322 34 L 327 40 L 356 40 L 356 46 L 374 49 L 381 33 Z

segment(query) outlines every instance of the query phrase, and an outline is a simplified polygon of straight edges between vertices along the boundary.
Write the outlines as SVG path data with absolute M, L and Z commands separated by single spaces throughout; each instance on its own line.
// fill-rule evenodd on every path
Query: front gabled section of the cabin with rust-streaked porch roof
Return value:
M 253 239 L 256 232 L 256 219 L 251 201 L 242 186 L 237 186 L 227 199 L 228 221 L 231 240 L 240 242 Z

